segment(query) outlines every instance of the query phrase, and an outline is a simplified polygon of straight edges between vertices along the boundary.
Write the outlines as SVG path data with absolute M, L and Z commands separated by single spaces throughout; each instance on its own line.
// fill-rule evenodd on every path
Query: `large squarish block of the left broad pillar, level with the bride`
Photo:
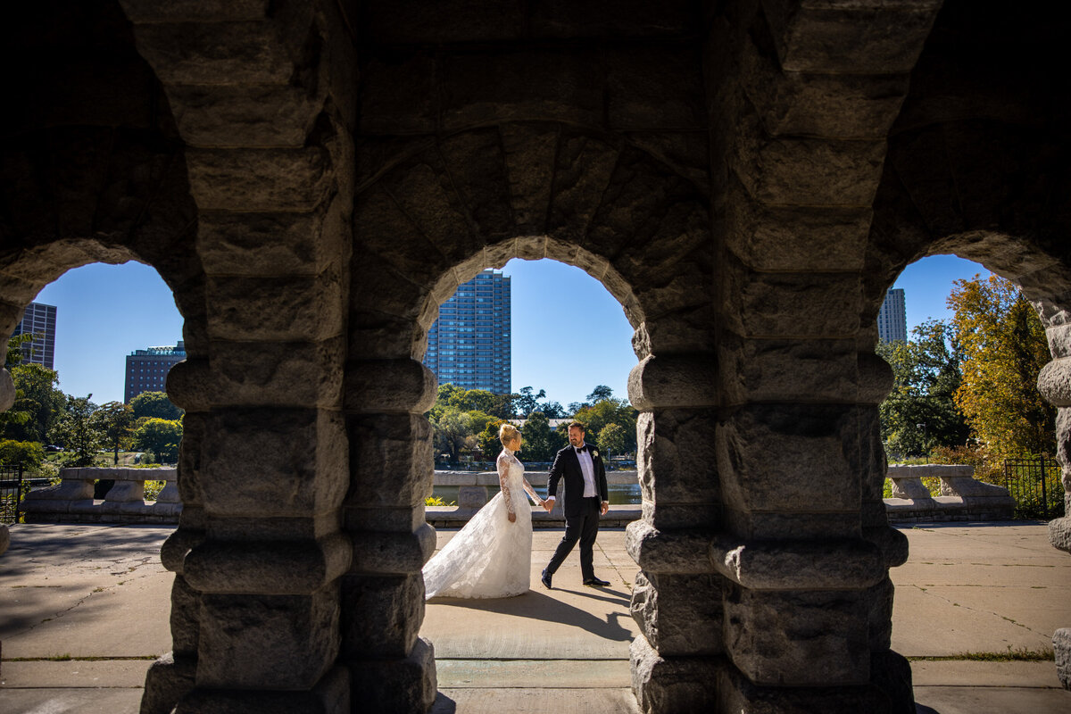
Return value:
M 346 493 L 342 416 L 315 409 L 229 409 L 206 420 L 201 488 L 214 516 L 311 517 Z

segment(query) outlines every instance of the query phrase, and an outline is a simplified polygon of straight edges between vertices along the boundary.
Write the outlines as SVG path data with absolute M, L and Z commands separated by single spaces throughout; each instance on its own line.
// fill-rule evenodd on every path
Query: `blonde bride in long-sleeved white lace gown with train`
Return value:
M 532 511 L 522 488 L 537 505 L 543 499 L 525 478 L 514 453 L 521 432 L 512 424 L 498 431 L 495 498 L 424 565 L 424 597 L 512 597 L 528 592 L 532 559 Z

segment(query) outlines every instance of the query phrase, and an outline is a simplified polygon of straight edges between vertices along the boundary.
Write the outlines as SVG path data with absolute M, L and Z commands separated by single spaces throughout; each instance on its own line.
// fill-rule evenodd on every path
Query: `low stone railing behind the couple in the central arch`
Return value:
M 545 471 L 526 472 L 525 477 L 532 486 L 546 486 L 549 474 Z M 608 484 L 636 484 L 635 471 L 607 471 Z M 436 471 L 436 486 L 457 486 L 456 506 L 427 506 L 425 517 L 427 522 L 437 528 L 464 526 L 487 503 L 487 487 L 498 486 L 498 474 L 494 471 Z M 525 497 L 527 500 L 527 496 Z M 561 499 L 556 499 L 554 511 L 547 513 L 527 501 L 532 508 L 533 528 L 556 528 L 565 522 L 561 512 Z M 612 505 L 609 512 L 602 517 L 600 523 L 606 528 L 628 526 L 640 517 L 640 507 L 636 505 Z

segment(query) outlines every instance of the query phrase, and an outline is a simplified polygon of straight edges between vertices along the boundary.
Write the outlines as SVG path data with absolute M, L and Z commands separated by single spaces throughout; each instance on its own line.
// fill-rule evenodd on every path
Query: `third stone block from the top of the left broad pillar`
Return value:
M 302 147 L 322 106 L 285 83 L 169 85 L 167 95 L 179 133 L 197 148 Z

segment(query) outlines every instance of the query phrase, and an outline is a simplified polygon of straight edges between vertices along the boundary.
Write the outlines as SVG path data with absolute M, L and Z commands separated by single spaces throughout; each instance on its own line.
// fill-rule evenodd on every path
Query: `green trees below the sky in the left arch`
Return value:
M 59 388 L 59 374 L 25 362 L 32 334 L 12 337 L 5 367 L 15 384 L 15 404 L 0 413 L 0 465 L 36 467 L 46 449 L 61 449 L 64 467 L 101 466 L 103 450 L 144 452 L 142 462 L 172 464 L 179 457 L 183 411 L 163 392 L 142 392 L 130 404 L 97 405 L 92 394 L 76 397 Z

